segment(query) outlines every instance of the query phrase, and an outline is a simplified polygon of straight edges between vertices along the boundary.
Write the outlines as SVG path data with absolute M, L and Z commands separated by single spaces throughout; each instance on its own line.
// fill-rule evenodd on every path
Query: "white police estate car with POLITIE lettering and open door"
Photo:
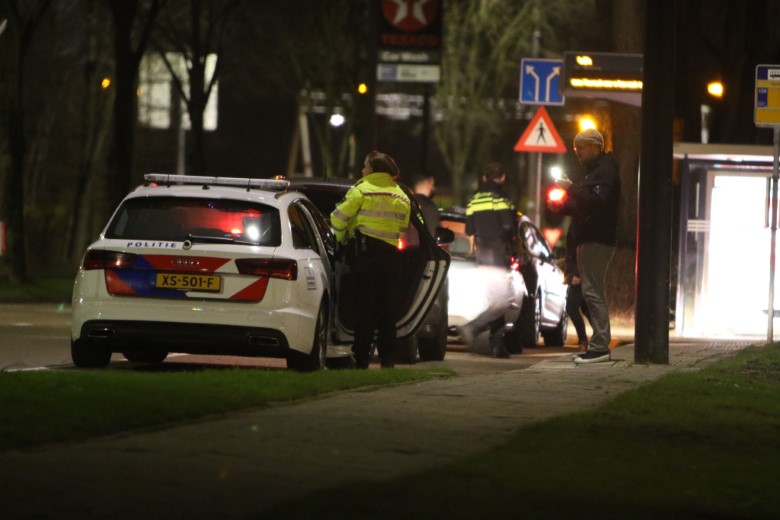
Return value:
M 145 181 L 89 246 L 76 276 L 76 366 L 104 367 L 113 352 L 138 362 L 182 352 L 282 357 L 295 370 L 351 365 L 351 345 L 329 341 L 331 330 L 345 334 L 333 306 L 333 235 L 305 195 L 268 179 Z M 446 277 L 446 266 L 414 268 L 415 294 Z M 431 302 L 414 304 L 399 337 Z

